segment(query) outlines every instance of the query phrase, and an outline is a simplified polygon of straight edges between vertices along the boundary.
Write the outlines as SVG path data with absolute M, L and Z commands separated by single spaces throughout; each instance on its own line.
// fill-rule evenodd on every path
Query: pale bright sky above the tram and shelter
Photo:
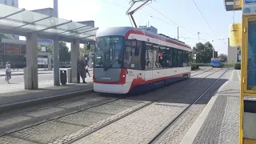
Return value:
M 126 15 L 130 0 L 58 0 L 58 17 L 73 21 L 94 20 L 100 28 L 131 26 Z M 194 2 L 196 3 L 195 6 Z M 218 54 L 227 54 L 230 24 L 242 21 L 241 11 L 227 12 L 223 0 L 154 0 L 134 14 L 137 25 L 149 22 L 158 34 L 178 38 L 190 46 L 211 42 Z M 19 7 L 36 10 L 53 8 L 53 0 L 19 0 Z M 199 10 L 201 13 L 199 12 Z M 202 17 L 204 16 L 204 18 Z

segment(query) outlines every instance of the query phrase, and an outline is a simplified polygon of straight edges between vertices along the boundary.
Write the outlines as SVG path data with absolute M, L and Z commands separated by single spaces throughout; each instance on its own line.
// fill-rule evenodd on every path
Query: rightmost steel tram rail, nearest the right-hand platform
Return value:
M 166 131 L 170 129 L 170 126 L 172 126 L 175 122 L 178 121 L 179 118 L 182 118 L 182 115 L 186 113 L 187 110 L 190 109 L 191 106 L 193 106 L 196 102 L 198 102 L 201 98 L 203 98 L 203 96 L 205 96 L 205 94 L 220 80 L 220 78 L 222 78 L 222 76 L 224 74 L 226 74 L 226 72 L 229 69 L 227 69 L 223 74 L 221 74 L 218 79 L 210 85 L 210 87 L 203 93 L 201 94 L 198 98 L 196 98 L 194 100 L 194 102 L 192 102 L 190 105 L 186 106 L 166 127 L 164 127 L 149 143 L 150 144 L 154 144 L 158 141 L 159 138 L 162 138 L 162 136 L 164 134 L 166 134 Z

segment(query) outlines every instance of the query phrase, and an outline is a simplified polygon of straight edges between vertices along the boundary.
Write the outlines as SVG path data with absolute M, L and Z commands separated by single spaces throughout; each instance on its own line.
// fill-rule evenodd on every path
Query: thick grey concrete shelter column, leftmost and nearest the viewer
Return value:
M 38 89 L 38 38 L 37 34 L 26 35 L 25 90 Z

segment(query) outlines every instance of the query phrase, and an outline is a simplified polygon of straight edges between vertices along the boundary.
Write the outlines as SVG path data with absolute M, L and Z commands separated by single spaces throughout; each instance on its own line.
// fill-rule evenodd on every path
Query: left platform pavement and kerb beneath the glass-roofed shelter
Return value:
M 24 90 L 24 83 L 2 85 L 0 112 L 13 107 L 30 106 L 30 104 L 34 105 L 42 101 L 52 101 L 57 98 L 93 92 L 92 77 L 86 78 L 86 82 L 88 83 L 67 83 L 64 86 L 54 86 L 54 81 L 43 81 L 38 83 L 38 90 Z

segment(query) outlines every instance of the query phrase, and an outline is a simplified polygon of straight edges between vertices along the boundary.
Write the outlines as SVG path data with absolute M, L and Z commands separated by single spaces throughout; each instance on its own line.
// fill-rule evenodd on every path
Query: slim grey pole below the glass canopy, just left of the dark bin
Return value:
M 59 47 L 58 47 L 58 39 L 54 40 L 54 86 L 60 86 L 60 82 L 59 82 Z

